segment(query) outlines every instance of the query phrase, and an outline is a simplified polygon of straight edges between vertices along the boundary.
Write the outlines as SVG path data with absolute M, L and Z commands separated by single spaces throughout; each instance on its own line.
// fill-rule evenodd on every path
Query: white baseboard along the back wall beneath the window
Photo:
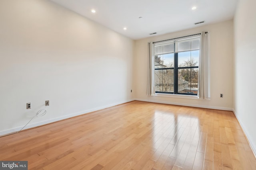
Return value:
M 172 105 L 178 105 L 178 106 L 189 106 L 189 107 L 200 107 L 200 108 L 206 108 L 206 109 L 217 109 L 217 110 L 228 110 L 233 111 L 232 108 L 228 107 L 216 107 L 216 106 L 204 106 L 204 105 L 195 105 L 195 104 L 184 104 L 184 103 L 175 103 L 175 102 L 163 102 L 158 100 L 144 100 L 144 99 L 134 99 L 142 102 L 152 102 L 152 103 L 160 103 L 160 104 L 172 104 Z

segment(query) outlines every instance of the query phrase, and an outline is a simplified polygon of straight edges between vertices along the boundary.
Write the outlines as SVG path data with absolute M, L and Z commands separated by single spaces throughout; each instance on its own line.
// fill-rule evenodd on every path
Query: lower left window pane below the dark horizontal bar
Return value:
M 173 92 L 173 69 L 155 70 L 156 92 Z

